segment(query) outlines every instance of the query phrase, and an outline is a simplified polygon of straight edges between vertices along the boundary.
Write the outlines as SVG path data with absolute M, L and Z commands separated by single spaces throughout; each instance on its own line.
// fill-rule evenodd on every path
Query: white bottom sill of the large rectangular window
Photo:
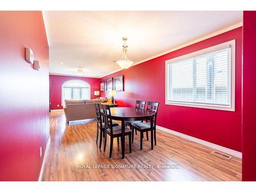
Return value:
M 222 110 L 222 111 L 235 111 L 234 105 L 224 106 L 224 105 L 214 105 L 214 104 L 200 104 L 200 103 L 184 103 L 184 102 L 174 102 L 174 101 L 165 101 L 165 104 L 176 105 L 176 106 L 188 106 L 190 108 L 203 108 L 211 110 Z

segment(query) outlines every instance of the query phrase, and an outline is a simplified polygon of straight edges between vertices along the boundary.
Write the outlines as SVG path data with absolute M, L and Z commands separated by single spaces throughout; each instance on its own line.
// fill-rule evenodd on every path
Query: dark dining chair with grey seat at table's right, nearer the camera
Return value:
M 147 101 L 147 108 L 146 111 L 155 112 L 153 115 L 153 131 L 154 131 L 154 140 L 155 145 L 156 142 L 156 122 L 157 122 L 157 111 L 158 111 L 159 102 L 152 102 Z M 151 123 L 147 122 L 135 122 L 132 123 L 132 142 L 134 138 L 134 129 L 140 132 L 140 150 L 142 150 L 142 140 L 143 140 L 143 133 L 146 132 L 147 140 L 148 140 L 148 132 L 151 131 Z

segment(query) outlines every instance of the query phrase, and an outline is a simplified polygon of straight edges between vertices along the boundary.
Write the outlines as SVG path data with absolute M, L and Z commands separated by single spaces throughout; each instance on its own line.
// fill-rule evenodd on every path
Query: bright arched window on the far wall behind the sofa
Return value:
M 65 99 L 91 99 L 90 84 L 82 80 L 69 80 L 64 82 L 61 87 L 62 104 L 65 104 Z

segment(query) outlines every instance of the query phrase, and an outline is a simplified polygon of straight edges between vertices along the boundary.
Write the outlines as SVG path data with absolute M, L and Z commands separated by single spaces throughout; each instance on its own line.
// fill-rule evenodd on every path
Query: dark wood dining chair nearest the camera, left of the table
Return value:
M 111 111 L 109 105 L 102 105 L 103 109 L 103 118 L 105 122 L 105 138 L 104 138 L 104 151 L 106 149 L 106 139 L 107 135 L 110 136 L 110 158 L 112 157 L 112 148 L 113 148 L 113 139 L 121 137 L 121 130 L 122 126 L 113 126 L 112 123 L 112 117 L 111 117 Z M 129 136 L 129 147 L 130 147 L 130 153 L 132 153 L 132 130 L 130 130 L 128 127 L 124 127 L 125 136 Z M 118 139 L 119 140 L 119 139 Z

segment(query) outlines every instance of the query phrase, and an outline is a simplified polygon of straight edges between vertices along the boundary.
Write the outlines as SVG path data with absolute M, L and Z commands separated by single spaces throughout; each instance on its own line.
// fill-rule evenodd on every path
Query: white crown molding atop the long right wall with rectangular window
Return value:
M 243 26 L 243 22 L 240 22 L 240 23 L 238 23 L 238 24 L 229 26 L 229 27 L 227 27 L 227 28 L 221 29 L 221 30 L 216 31 L 216 32 L 214 32 L 214 33 L 210 33 L 210 34 L 208 34 L 208 35 L 205 35 L 205 36 L 202 36 L 202 37 L 200 37 L 200 38 L 197 38 L 197 39 L 195 39 L 195 40 L 193 40 L 193 41 L 189 41 L 189 42 L 187 42 L 187 43 L 185 43 L 185 44 L 182 44 L 182 45 L 180 45 L 180 46 L 178 46 L 178 47 L 169 49 L 169 50 L 167 50 L 167 51 L 164 51 L 164 52 L 159 53 L 159 54 L 157 54 L 157 55 L 154 55 L 154 56 L 152 56 L 152 57 L 148 57 L 148 58 L 146 58 L 146 59 L 143 59 L 143 60 L 140 60 L 140 61 L 138 61 L 138 62 L 135 62 L 131 67 L 136 66 L 136 65 L 139 65 L 140 63 L 143 63 L 143 62 L 145 62 L 145 61 L 148 61 L 148 60 L 151 60 L 151 59 L 160 57 L 160 56 L 165 55 L 165 54 L 167 54 L 167 53 L 170 53 L 170 52 L 173 52 L 173 51 L 182 49 L 182 48 L 184 48 L 184 47 L 187 47 L 187 46 L 196 44 L 197 42 L 200 42 L 200 41 L 202 41 L 202 40 L 205 40 L 205 39 L 208 39 L 208 38 L 211 38 L 211 37 L 220 35 L 220 34 L 222 34 L 222 33 L 231 31 L 231 30 L 233 30 L 233 29 L 237 29 L 237 28 L 242 27 L 242 26 Z M 113 74 L 113 73 L 116 73 L 116 72 L 122 71 L 122 70 L 123 70 L 123 69 L 115 70 L 115 71 L 113 71 L 113 72 L 111 72 L 111 73 L 108 73 L 108 74 L 106 74 L 106 75 L 103 75 L 103 76 L 101 76 L 101 77 L 99 77 L 99 78 L 102 78 L 102 77 L 111 75 L 111 74 Z

